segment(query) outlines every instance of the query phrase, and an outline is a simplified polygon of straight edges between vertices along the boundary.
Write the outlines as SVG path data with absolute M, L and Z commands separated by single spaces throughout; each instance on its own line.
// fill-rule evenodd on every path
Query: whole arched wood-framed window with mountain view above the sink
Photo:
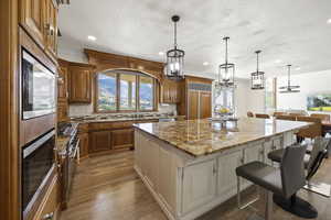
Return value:
M 134 70 L 98 73 L 95 112 L 143 112 L 157 110 L 157 79 Z

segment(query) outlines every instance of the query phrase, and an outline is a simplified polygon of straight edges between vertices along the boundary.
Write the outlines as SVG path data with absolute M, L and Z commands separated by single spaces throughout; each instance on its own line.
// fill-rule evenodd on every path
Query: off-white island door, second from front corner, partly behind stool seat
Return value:
M 236 168 L 243 165 L 243 151 L 236 151 L 218 157 L 217 194 L 224 197 L 233 196 L 237 190 Z

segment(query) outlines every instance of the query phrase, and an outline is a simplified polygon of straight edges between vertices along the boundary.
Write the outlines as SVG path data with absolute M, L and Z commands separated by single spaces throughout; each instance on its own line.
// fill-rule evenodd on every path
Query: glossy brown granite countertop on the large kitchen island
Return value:
M 159 123 L 140 123 L 134 127 L 140 129 L 193 156 L 212 154 L 238 146 L 248 142 L 275 136 L 287 131 L 296 131 L 308 127 L 308 122 L 284 121 L 273 119 L 243 118 L 235 127 L 227 122 L 227 129 L 222 129 L 217 122 L 204 120 L 188 120 Z

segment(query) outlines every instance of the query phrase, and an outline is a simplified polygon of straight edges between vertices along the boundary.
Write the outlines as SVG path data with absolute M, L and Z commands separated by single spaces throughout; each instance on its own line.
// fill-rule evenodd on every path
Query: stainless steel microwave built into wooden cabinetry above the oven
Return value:
M 28 51 L 22 50 L 22 118 L 23 120 L 55 112 L 54 73 Z

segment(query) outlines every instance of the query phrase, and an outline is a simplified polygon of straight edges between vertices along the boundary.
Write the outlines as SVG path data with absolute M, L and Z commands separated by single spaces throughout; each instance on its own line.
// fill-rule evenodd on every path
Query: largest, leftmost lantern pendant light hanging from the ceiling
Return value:
M 184 78 L 183 66 L 185 52 L 177 47 L 177 22 L 180 16 L 173 15 L 171 20 L 174 23 L 174 48 L 167 52 L 166 76 L 169 79 L 180 80 Z

